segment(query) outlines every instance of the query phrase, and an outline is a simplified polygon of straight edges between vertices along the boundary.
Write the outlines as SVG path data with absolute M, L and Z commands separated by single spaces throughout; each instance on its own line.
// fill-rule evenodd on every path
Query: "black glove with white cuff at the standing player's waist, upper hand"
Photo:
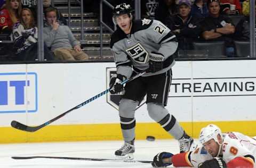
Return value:
M 163 69 L 164 56 L 160 53 L 149 54 L 149 69 L 147 72 L 157 72 Z

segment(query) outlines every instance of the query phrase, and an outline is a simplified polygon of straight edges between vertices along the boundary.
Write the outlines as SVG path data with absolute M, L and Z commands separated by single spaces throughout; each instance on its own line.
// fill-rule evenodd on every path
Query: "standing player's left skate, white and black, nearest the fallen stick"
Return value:
M 116 150 L 115 155 L 118 159 L 132 160 L 135 152 L 134 141 L 124 142 L 124 145 Z

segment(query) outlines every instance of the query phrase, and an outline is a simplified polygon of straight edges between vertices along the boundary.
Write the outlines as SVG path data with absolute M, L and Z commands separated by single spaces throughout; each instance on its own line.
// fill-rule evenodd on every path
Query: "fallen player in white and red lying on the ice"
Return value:
M 154 157 L 153 167 L 253 168 L 256 158 L 256 137 L 239 132 L 221 133 L 217 125 L 202 128 L 199 146 L 194 151 L 176 154 L 162 152 Z

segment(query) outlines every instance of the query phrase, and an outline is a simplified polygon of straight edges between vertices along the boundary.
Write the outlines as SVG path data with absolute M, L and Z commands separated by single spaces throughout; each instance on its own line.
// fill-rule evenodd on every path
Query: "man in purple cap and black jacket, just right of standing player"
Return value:
M 165 24 L 177 36 L 179 49 L 193 49 L 192 42 L 198 39 L 201 32 L 198 18 L 191 16 L 190 11 L 190 0 L 180 0 L 179 13 Z

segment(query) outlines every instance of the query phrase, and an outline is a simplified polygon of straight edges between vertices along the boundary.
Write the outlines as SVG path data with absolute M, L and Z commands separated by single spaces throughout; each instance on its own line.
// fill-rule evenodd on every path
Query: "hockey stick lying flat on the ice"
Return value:
M 119 160 L 111 158 L 85 158 L 85 157 L 56 157 L 56 156 L 13 156 L 13 159 L 32 159 L 32 158 L 53 158 L 53 159 L 69 159 L 69 160 L 81 160 L 81 161 L 107 161 L 107 162 L 132 162 L 132 163 L 152 163 L 152 161 L 140 161 L 140 160 Z

